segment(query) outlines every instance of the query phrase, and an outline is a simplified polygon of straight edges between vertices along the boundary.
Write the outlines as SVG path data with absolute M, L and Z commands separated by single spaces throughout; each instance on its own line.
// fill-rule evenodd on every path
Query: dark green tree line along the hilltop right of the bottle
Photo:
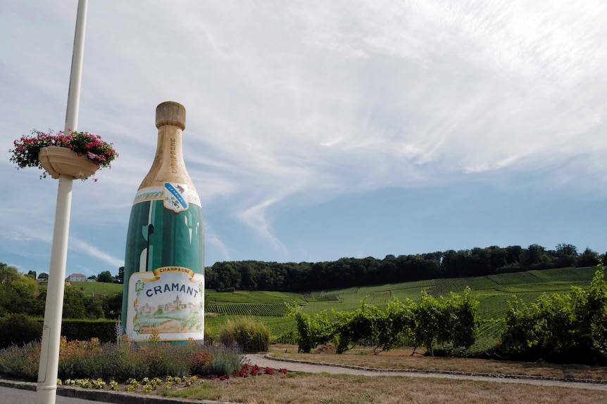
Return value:
M 461 278 L 535 269 L 596 266 L 605 254 L 559 244 L 491 246 L 426 254 L 387 255 L 384 259 L 342 258 L 323 262 L 220 261 L 205 268 L 207 289 L 306 292 L 363 285 Z

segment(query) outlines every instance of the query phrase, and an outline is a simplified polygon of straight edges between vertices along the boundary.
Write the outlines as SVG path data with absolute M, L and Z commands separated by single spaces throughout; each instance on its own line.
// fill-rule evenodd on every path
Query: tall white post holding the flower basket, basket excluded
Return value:
M 77 130 L 82 58 L 85 51 L 87 2 L 88 0 L 78 1 L 64 133 Z M 73 180 L 73 176 L 66 174 L 59 175 L 49 283 L 46 289 L 36 404 L 54 404 L 57 396 L 59 342 L 61 341 L 61 315 L 63 314 L 63 289 L 65 286 L 65 263 L 68 257 Z

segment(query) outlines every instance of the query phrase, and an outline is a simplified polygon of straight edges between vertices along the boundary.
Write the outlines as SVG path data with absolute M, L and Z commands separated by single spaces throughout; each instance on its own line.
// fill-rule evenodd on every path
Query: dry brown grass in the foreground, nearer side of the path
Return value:
M 606 391 L 501 382 L 327 374 L 262 375 L 205 382 L 170 396 L 246 404 L 604 403 Z

